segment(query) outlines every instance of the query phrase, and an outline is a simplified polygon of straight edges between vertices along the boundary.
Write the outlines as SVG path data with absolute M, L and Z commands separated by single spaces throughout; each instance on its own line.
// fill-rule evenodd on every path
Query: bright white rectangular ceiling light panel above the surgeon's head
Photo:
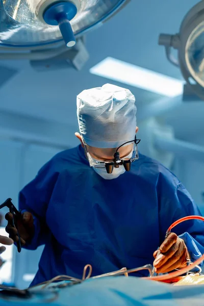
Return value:
M 118 81 L 127 85 L 142 88 L 168 97 L 183 93 L 184 81 L 167 77 L 139 66 L 108 57 L 90 69 L 99 77 Z

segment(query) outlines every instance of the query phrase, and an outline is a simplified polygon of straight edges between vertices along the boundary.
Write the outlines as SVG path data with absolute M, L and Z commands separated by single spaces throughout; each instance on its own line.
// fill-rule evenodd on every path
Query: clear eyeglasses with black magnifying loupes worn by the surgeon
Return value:
M 123 166 L 125 168 L 126 171 L 130 171 L 131 170 L 131 163 L 133 163 L 134 161 L 138 160 L 139 156 L 138 156 L 138 148 L 137 145 L 138 143 L 141 141 L 141 139 L 137 139 L 137 137 L 135 136 L 134 140 L 131 141 L 127 141 L 125 143 L 123 143 L 122 145 L 120 145 L 115 154 L 114 154 L 114 159 L 112 161 L 108 161 L 108 162 L 99 162 L 96 159 L 94 159 L 88 149 L 87 149 L 87 145 L 83 140 L 84 143 L 84 147 L 85 147 L 85 153 L 87 156 L 87 159 L 89 161 L 90 167 L 95 167 L 95 168 L 106 168 L 107 173 L 111 174 L 113 172 L 114 168 L 119 168 L 119 166 Z M 119 148 L 121 148 L 122 146 L 126 145 L 127 143 L 134 143 L 133 146 L 133 154 L 131 158 L 120 158 L 120 154 L 118 152 Z

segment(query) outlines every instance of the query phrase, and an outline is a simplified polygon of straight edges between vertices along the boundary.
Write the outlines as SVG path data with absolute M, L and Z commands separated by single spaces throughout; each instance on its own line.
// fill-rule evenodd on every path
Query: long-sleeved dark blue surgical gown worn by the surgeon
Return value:
M 140 155 L 130 172 L 104 180 L 81 145 L 40 169 L 20 192 L 19 208 L 34 215 L 35 236 L 25 247 L 45 244 L 32 285 L 60 274 L 82 278 L 86 264 L 92 275 L 152 264 L 169 225 L 200 215 L 184 186 L 157 161 Z M 192 261 L 204 253 L 204 222 L 186 221 L 173 232 Z

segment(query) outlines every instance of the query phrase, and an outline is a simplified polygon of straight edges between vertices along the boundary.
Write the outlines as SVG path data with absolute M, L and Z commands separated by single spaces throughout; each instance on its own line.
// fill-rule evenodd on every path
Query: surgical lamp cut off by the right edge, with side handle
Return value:
M 167 59 L 180 67 L 188 87 L 204 100 L 204 1 L 195 5 L 184 17 L 179 34 L 160 34 Z M 178 50 L 178 58 L 171 48 Z

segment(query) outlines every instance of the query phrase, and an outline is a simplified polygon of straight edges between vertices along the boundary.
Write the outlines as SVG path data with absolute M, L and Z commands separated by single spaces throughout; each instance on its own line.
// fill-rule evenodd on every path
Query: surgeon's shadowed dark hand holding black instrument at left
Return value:
M 24 212 L 21 214 L 22 218 L 14 216 L 14 224 L 18 226 L 18 234 L 20 236 L 21 245 L 24 245 L 26 242 L 31 240 L 34 236 L 34 223 L 33 215 L 29 212 Z M 9 237 L 13 239 L 14 242 L 18 241 L 17 229 L 12 226 L 13 215 L 7 213 L 5 216 L 8 224 L 6 226 L 6 232 L 9 233 Z

